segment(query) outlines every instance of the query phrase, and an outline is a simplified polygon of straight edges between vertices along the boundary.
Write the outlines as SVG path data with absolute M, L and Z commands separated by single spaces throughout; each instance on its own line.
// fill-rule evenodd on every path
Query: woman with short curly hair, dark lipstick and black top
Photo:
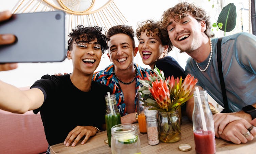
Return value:
M 157 67 L 164 72 L 164 76 L 185 78 L 185 71 L 179 63 L 167 54 L 173 48 L 168 33 L 161 22 L 147 20 L 142 22 L 136 29 L 136 36 L 139 40 L 139 52 L 145 65 L 151 69 Z

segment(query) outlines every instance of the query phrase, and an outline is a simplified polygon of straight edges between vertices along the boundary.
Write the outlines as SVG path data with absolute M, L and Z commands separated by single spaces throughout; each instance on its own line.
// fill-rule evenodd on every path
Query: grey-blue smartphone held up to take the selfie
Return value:
M 14 34 L 17 41 L 0 46 L 0 63 L 59 62 L 66 58 L 65 12 L 14 14 L 0 22 L 0 34 Z

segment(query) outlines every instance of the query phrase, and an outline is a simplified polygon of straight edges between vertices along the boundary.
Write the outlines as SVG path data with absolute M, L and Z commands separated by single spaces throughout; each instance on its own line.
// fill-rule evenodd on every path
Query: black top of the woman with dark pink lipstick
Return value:
M 184 69 L 171 56 L 158 59 L 155 63 L 155 66 L 164 72 L 165 78 L 168 78 L 169 76 L 171 77 L 173 75 L 174 78 L 180 78 L 182 76 L 182 79 L 184 80 L 186 77 Z

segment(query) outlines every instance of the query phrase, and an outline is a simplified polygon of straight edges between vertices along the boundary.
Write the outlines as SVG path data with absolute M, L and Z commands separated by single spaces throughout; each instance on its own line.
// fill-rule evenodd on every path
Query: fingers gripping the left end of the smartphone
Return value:
M 0 22 L 11 18 L 10 11 L 0 12 Z M 16 37 L 12 34 L 0 34 L 0 45 L 12 44 L 16 40 Z M 13 70 L 18 67 L 17 63 L 0 63 L 0 71 Z

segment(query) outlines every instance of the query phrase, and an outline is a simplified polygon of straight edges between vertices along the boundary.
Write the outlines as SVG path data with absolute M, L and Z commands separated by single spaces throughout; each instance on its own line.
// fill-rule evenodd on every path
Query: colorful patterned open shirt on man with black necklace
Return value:
M 138 101 L 138 98 L 137 98 L 138 89 L 139 89 L 139 86 L 143 86 L 138 81 L 138 79 L 139 79 L 139 77 L 142 77 L 142 78 L 146 77 L 146 72 L 150 73 L 150 69 L 142 68 L 138 64 L 135 64 L 135 66 L 138 70 L 137 76 L 136 76 L 136 89 L 135 89 L 136 94 L 135 94 L 135 100 L 134 100 L 134 107 L 135 107 L 135 112 L 136 112 L 137 111 L 136 105 L 137 105 L 137 101 Z M 119 85 L 118 80 L 113 75 L 113 67 L 114 67 L 114 64 L 111 64 L 104 70 L 95 72 L 93 74 L 92 79 L 99 83 L 105 84 L 111 88 L 111 91 L 112 91 L 111 94 L 114 94 L 116 97 L 117 108 L 118 108 L 119 112 L 121 113 L 121 116 L 124 116 L 124 115 L 128 114 L 126 112 L 124 95 L 123 95 L 123 92 Z

